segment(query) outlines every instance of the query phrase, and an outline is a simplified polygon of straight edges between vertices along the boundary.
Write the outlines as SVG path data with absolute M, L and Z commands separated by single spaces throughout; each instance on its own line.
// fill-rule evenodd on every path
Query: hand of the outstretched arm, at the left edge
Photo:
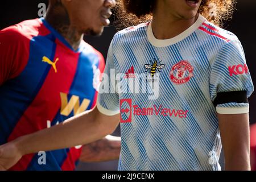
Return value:
M 9 142 L 0 146 L 0 171 L 13 167 L 22 158 L 22 154 L 15 142 Z

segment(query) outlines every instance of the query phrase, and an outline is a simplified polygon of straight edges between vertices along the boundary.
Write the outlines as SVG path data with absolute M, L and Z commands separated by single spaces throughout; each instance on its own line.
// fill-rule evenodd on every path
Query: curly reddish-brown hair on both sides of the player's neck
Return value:
M 115 12 L 118 28 L 130 27 L 147 22 L 152 18 L 156 0 L 117 0 Z M 236 0 L 202 0 L 199 13 L 209 22 L 222 26 L 222 22 L 232 18 Z

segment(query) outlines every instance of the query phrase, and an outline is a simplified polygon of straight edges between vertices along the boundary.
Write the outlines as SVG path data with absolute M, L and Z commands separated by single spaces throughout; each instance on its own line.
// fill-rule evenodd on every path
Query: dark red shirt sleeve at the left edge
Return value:
M 0 86 L 22 72 L 27 63 L 20 60 L 27 57 L 25 37 L 18 28 L 11 26 L 0 31 Z

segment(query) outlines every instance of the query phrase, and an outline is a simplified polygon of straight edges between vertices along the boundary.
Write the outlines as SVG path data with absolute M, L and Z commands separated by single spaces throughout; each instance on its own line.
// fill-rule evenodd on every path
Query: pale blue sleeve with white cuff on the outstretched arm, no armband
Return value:
M 113 41 L 110 44 L 105 71 L 98 93 L 97 108 L 105 115 L 119 113 L 119 95 L 115 92 L 115 68 L 113 55 Z

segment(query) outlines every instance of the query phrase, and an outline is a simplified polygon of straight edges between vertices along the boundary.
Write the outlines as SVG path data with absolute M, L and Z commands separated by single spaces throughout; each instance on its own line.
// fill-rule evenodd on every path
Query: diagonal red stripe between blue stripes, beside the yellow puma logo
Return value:
M 79 53 L 68 52 L 65 50 L 67 48 L 64 45 L 60 45 L 62 43 L 59 40 L 56 40 L 56 43 L 55 58 L 52 61 L 59 58 L 59 61 L 56 63 L 57 73 L 51 67 L 39 93 L 19 119 L 8 141 L 22 135 L 46 129 L 47 121 L 53 121 L 60 109 L 60 92 L 68 93 L 71 88 L 77 69 Z M 33 156 L 34 154 L 23 156 L 19 163 L 11 168 L 11 170 L 26 169 Z

